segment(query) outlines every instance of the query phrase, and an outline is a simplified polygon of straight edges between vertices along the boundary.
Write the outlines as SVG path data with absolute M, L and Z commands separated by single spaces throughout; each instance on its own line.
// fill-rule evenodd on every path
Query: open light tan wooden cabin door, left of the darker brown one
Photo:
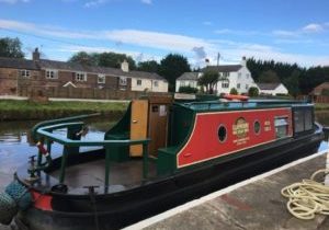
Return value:
M 147 138 L 148 101 L 132 101 L 131 139 Z M 131 146 L 131 157 L 141 157 L 143 146 Z

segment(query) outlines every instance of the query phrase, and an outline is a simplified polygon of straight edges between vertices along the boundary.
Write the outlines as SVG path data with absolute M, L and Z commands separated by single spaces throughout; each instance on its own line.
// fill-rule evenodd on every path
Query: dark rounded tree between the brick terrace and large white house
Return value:
M 184 72 L 191 72 L 188 59 L 179 54 L 169 54 L 160 62 L 160 76 L 169 82 L 169 90 L 174 91 L 175 79 Z

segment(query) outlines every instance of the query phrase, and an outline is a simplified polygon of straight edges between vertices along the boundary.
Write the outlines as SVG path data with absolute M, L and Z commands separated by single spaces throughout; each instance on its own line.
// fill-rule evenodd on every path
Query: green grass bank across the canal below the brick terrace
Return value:
M 49 119 L 80 114 L 101 113 L 104 116 L 121 116 L 127 107 L 123 102 L 46 102 L 1 100 L 0 120 Z

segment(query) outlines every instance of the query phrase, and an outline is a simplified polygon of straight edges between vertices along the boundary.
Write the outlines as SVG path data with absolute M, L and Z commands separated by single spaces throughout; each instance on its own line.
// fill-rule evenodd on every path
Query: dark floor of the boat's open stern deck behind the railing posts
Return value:
M 52 172 L 52 176 L 59 179 L 59 170 Z M 149 177 L 156 175 L 156 164 L 149 162 Z M 88 163 L 72 165 L 66 169 L 65 184 L 72 189 L 83 186 L 104 186 L 105 160 L 95 160 Z M 110 192 L 125 189 L 139 185 L 143 181 L 141 160 L 127 162 L 111 162 L 110 165 Z M 83 188 L 86 191 L 86 188 Z

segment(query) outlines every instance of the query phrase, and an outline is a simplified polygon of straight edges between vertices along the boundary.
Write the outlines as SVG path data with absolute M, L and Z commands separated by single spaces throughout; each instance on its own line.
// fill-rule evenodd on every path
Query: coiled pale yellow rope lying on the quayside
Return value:
M 315 177 L 329 173 L 329 169 L 318 170 L 310 180 L 294 183 L 282 188 L 281 194 L 288 198 L 288 211 L 299 219 L 314 219 L 316 214 L 329 215 L 329 186 L 315 181 Z

